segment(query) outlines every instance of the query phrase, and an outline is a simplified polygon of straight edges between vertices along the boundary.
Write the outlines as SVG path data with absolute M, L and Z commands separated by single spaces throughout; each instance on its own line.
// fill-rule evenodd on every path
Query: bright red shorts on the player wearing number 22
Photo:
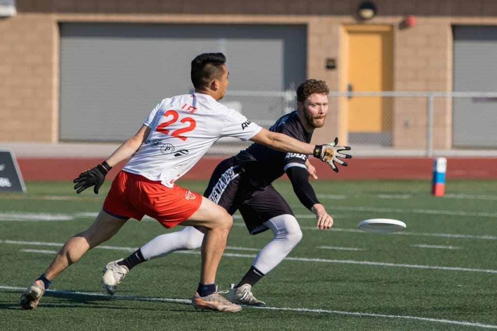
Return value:
M 141 220 L 155 218 L 166 228 L 188 219 L 202 202 L 202 196 L 174 185 L 168 188 L 160 181 L 121 171 L 112 182 L 103 210 L 122 218 Z

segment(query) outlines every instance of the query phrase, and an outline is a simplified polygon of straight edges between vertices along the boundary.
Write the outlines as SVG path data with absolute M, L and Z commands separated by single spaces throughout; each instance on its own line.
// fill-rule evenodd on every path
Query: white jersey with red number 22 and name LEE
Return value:
M 143 123 L 150 134 L 123 167 L 124 171 L 172 187 L 219 138 L 248 140 L 262 128 L 207 94 L 162 100 Z

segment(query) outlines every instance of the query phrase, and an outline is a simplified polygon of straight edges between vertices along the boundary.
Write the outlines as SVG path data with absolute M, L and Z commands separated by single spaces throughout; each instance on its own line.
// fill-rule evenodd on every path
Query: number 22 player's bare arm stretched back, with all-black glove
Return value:
M 74 189 L 77 190 L 76 193 L 79 194 L 87 188 L 94 186 L 93 192 L 98 194 L 98 190 L 100 190 L 100 187 L 105 180 L 105 175 L 107 175 L 110 169 L 133 155 L 133 153 L 140 148 L 143 141 L 147 139 L 149 133 L 150 128 L 145 125 L 142 126 L 134 136 L 119 146 L 105 161 L 82 172 L 80 176 L 73 181 L 73 183 L 76 184 L 74 186 Z

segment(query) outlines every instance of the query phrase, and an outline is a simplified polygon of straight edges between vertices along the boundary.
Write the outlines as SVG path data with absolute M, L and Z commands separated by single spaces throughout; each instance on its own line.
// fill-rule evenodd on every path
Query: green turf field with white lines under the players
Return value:
M 179 184 L 200 193 L 206 186 Z M 0 330 L 497 329 L 495 180 L 449 180 L 443 198 L 430 195 L 429 181 L 313 181 L 334 218 L 327 231 L 315 229 L 289 182 L 277 181 L 304 237 L 254 287 L 267 308 L 194 310 L 189 299 L 198 283 L 198 251 L 138 265 L 115 296 L 106 295 L 103 266 L 170 231 L 144 219 L 130 220 L 63 272 L 36 310 L 22 310 L 22 291 L 70 236 L 92 223 L 108 185 L 98 196 L 92 190 L 76 195 L 70 182 L 27 182 L 24 195 L 0 194 Z M 400 219 L 407 229 L 357 230 L 368 218 Z M 217 275 L 221 290 L 240 280 L 271 237 L 249 236 L 238 214 L 234 222 Z

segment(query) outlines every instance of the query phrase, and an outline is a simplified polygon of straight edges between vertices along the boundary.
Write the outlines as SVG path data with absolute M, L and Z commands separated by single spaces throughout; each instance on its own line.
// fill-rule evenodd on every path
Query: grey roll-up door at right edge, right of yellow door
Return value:
M 497 91 L 497 27 L 455 26 L 454 91 Z M 454 98 L 453 145 L 497 147 L 497 98 Z

